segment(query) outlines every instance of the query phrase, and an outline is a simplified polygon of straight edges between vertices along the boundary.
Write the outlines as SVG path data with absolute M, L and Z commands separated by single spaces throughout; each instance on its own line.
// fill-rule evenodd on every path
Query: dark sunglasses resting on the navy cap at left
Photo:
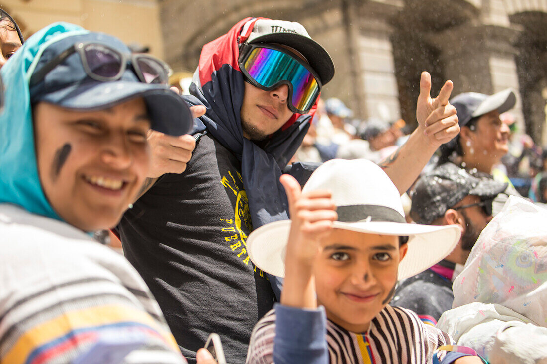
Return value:
M 106 44 L 78 42 L 69 46 L 34 72 L 30 86 L 36 85 L 46 74 L 73 53 L 80 55 L 85 73 L 92 79 L 101 82 L 120 79 L 129 62 L 131 62 L 138 79 L 146 84 L 167 85 L 169 75 L 172 73 L 164 61 L 147 54 L 125 54 Z

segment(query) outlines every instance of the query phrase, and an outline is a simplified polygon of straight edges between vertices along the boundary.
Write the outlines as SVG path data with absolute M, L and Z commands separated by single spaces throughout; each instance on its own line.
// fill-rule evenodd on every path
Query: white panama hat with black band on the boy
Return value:
M 337 206 L 335 228 L 369 234 L 408 236 L 408 251 L 399 264 L 399 279 L 420 273 L 442 260 L 461 236 L 456 225 L 408 224 L 397 187 L 375 163 L 334 159 L 312 173 L 302 192 L 330 190 Z M 290 220 L 257 228 L 247 238 L 251 261 L 264 272 L 284 277 Z

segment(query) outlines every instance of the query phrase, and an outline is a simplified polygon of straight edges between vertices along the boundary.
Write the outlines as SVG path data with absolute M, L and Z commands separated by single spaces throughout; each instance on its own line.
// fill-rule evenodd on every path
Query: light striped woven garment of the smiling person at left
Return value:
M 0 204 L 0 364 L 124 357 L 186 362 L 135 269 L 67 224 Z

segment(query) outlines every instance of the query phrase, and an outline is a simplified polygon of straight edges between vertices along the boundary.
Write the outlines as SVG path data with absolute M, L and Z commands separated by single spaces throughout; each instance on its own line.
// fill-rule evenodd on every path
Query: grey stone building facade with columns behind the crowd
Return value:
M 194 69 L 201 46 L 247 16 L 301 22 L 333 57 L 336 96 L 361 119 L 415 122 L 420 73 L 433 93 L 520 93 L 514 114 L 547 142 L 547 0 L 162 0 L 165 58 Z M 526 122 L 524 122 L 526 120 Z

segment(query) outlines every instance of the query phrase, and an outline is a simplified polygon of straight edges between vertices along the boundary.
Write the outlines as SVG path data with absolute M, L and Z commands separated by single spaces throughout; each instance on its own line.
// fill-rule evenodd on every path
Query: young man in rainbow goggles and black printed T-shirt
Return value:
M 243 362 L 254 325 L 278 300 L 280 281 L 252 265 L 246 239 L 288 219 L 279 178 L 333 76 L 328 52 L 301 24 L 243 19 L 203 46 L 186 98 L 207 108 L 195 119 L 195 139 L 148 138 L 161 178 L 148 180 L 118 232 L 190 361 L 216 332 L 226 360 Z M 434 99 L 430 87 L 424 73 L 420 127 L 382 165 L 399 191 L 459 131 L 448 104 L 452 83 Z

